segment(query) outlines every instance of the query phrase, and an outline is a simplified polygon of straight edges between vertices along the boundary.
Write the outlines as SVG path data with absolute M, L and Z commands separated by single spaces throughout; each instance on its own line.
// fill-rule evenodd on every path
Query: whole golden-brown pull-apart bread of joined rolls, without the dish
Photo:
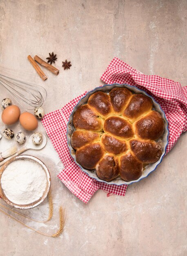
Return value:
M 107 182 L 137 180 L 163 153 L 157 142 L 165 130 L 162 116 L 150 97 L 125 87 L 91 94 L 74 113 L 73 126 L 76 161 Z

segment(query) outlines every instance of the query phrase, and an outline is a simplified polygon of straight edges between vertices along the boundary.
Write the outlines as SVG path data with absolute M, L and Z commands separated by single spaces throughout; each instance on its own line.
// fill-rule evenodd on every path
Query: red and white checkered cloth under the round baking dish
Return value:
M 180 83 L 172 80 L 142 74 L 116 57 L 100 79 L 108 84 L 135 85 L 160 103 L 169 122 L 167 153 L 176 144 L 181 133 L 187 130 L 187 86 L 182 88 Z M 58 177 L 72 193 L 85 203 L 98 189 L 124 196 L 127 185 L 108 185 L 92 179 L 80 169 L 69 154 L 66 139 L 67 122 L 73 107 L 85 94 L 86 92 L 67 103 L 62 109 L 51 112 L 42 119 L 47 135 L 65 167 Z

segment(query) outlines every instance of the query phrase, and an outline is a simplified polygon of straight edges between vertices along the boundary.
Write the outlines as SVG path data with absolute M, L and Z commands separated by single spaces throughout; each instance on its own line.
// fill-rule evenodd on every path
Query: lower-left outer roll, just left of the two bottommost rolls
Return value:
M 82 167 L 93 170 L 104 154 L 105 151 L 102 149 L 100 143 L 93 142 L 78 148 L 76 151 L 76 159 Z

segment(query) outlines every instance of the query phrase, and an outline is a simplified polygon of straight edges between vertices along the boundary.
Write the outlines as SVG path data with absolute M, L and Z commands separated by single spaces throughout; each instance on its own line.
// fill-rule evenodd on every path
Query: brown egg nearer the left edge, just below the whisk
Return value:
M 20 116 L 20 109 L 16 105 L 8 106 L 2 112 L 1 119 L 4 124 L 15 124 Z

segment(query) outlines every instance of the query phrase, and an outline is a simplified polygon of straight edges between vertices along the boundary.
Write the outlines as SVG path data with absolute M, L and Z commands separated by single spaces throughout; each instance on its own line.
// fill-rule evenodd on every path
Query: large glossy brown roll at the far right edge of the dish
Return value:
M 141 139 L 156 140 L 163 135 L 164 128 L 164 121 L 161 115 L 154 110 L 148 112 L 135 124 L 136 135 Z

